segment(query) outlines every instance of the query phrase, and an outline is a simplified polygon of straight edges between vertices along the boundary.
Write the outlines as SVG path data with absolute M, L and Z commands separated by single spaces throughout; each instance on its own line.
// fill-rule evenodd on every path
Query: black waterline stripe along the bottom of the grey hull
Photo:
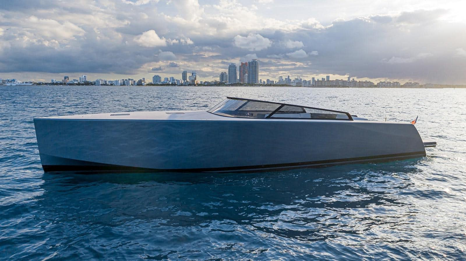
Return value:
M 88 163 L 89 165 L 42 165 L 45 172 L 53 171 L 135 171 L 135 172 L 154 172 L 154 171 L 166 171 L 166 172 L 215 172 L 215 171 L 253 171 L 254 169 L 290 169 L 290 168 L 299 168 L 299 167 L 311 167 L 312 165 L 325 165 L 325 164 L 337 164 L 337 163 L 351 163 L 351 162 L 361 162 L 370 160 L 393 160 L 397 159 L 407 159 L 413 157 L 423 157 L 425 156 L 425 151 L 417 152 L 407 152 L 407 153 L 397 153 L 397 154 L 386 154 L 378 156 L 367 156 L 367 157 L 353 157 L 353 158 L 344 158 L 344 159 L 332 159 L 332 160 L 320 160 L 320 161 L 308 161 L 308 162 L 299 162 L 299 163 L 281 163 L 281 164 L 268 164 L 268 165 L 254 165 L 254 166 L 239 166 L 239 167 L 222 167 L 222 168 L 198 168 L 198 169 L 151 169 L 151 168 L 139 168 L 139 167 L 130 167 L 130 166 L 121 166 L 114 164 L 102 164 L 102 163 L 93 163 L 86 161 L 79 161 L 82 163 Z M 98 165 L 92 165 L 98 164 Z

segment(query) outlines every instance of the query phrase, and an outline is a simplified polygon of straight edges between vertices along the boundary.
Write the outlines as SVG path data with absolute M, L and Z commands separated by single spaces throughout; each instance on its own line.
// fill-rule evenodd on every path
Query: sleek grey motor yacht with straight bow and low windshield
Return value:
M 209 111 L 34 119 L 44 171 L 258 171 L 425 156 L 413 124 L 226 98 Z

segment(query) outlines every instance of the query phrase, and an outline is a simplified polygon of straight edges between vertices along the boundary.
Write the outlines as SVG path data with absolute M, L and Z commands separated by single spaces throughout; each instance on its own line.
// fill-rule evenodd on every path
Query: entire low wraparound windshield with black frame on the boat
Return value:
M 208 112 L 227 117 L 352 120 L 348 112 L 273 102 L 226 98 Z

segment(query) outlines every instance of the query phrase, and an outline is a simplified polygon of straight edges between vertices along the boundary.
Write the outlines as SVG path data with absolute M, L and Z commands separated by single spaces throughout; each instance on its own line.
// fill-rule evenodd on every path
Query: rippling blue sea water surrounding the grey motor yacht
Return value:
M 49 174 L 34 117 L 225 96 L 411 121 L 427 157 L 248 174 Z M 464 260 L 466 90 L 0 86 L 0 258 Z

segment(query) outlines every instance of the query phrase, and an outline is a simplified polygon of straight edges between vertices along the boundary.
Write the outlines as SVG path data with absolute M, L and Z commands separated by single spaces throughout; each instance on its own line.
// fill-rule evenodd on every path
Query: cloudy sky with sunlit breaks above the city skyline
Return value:
M 466 84 L 465 1 L 0 0 L 0 78 L 279 76 Z

